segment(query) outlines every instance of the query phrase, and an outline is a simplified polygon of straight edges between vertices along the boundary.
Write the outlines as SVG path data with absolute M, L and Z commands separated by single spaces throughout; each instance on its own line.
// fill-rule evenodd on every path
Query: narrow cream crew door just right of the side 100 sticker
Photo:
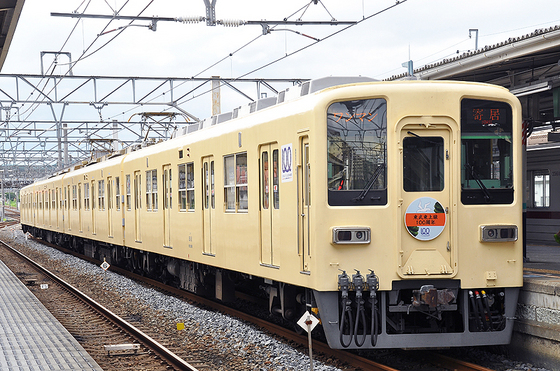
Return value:
M 301 140 L 301 155 L 298 165 L 298 218 L 299 254 L 302 272 L 309 272 L 311 257 L 310 209 L 311 209 L 311 162 L 309 160 L 309 138 Z

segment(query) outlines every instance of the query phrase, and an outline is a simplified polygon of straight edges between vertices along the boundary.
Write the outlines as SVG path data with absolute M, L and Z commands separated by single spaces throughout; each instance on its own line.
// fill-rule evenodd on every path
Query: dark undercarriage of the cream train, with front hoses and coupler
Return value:
M 507 344 L 519 288 L 461 289 L 459 280 L 395 281 L 378 290 L 371 272 L 338 277 L 339 290 L 319 292 L 239 272 L 22 226 L 24 233 L 184 290 L 233 302 L 256 296 L 297 328 L 305 311 L 321 321 L 331 348 L 426 348 Z M 315 330 L 317 331 L 317 330 Z M 319 330 L 320 331 L 320 330 Z

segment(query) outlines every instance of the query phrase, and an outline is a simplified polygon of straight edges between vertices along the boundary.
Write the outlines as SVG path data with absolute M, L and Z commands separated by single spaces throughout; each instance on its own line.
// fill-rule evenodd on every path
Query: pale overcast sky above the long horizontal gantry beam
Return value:
M 307 0 L 219 0 L 216 18 L 282 20 L 306 4 Z M 361 20 L 395 5 L 395 1 L 322 0 L 322 4 L 324 7 L 321 3 L 311 4 L 302 20 L 330 20 L 331 15 L 339 21 Z M 292 31 L 275 30 L 259 37 L 260 26 L 158 22 L 154 32 L 137 27 L 146 26 L 147 21 L 136 21 L 136 26 L 120 34 L 114 31 L 98 36 L 129 22 L 50 16 L 51 12 L 81 13 L 86 6 L 88 14 L 109 15 L 122 8 L 121 15 L 205 15 L 203 0 L 26 0 L 2 73 L 39 74 L 41 51 L 70 52 L 73 61 L 84 52 L 89 55 L 95 51 L 74 66 L 75 75 L 239 77 L 315 43 L 292 32 L 298 31 L 324 40 L 246 77 L 363 75 L 383 79 L 405 72 L 401 64 L 409 55 L 414 66 L 420 67 L 452 56 L 457 50 L 474 49 L 475 37 L 473 33 L 469 38 L 469 29 L 479 30 L 478 45 L 483 47 L 560 24 L 557 0 L 408 0 L 332 37 L 328 36 L 345 26 L 279 26 L 277 29 Z M 301 12 L 289 19 L 300 16 Z M 117 37 L 103 46 L 114 36 Z M 235 52 L 251 40 L 254 41 Z M 47 69 L 51 60 L 45 58 L 43 62 Z M 67 60 L 61 57 L 59 62 Z M 64 74 L 67 70 L 67 65 L 59 65 L 54 73 Z M 222 103 L 229 108 L 224 97 Z M 198 114 L 204 117 L 204 113 L 209 109 Z

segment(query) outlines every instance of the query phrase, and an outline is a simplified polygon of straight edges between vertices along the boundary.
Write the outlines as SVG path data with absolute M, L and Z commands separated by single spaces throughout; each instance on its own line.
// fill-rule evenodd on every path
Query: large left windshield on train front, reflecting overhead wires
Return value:
M 333 103 L 327 110 L 329 205 L 387 203 L 387 102 Z

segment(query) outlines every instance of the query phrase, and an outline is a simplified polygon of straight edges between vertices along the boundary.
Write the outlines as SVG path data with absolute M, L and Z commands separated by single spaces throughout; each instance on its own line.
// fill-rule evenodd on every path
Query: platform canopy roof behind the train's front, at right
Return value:
M 554 100 L 560 99 L 560 25 L 422 66 L 414 76 L 506 87 L 520 98 L 524 119 L 532 126 L 560 126 L 560 102 L 554 109 Z M 405 78 L 407 74 L 388 80 Z

